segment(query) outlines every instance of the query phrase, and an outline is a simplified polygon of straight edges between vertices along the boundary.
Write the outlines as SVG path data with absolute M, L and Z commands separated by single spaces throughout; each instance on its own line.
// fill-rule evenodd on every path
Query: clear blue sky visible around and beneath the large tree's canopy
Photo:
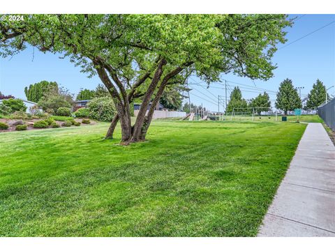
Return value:
M 335 21 L 335 15 L 290 15 L 290 17 L 296 16 L 299 17 L 299 20 L 293 24 L 292 28 L 287 29 L 287 43 Z M 278 45 L 278 48 L 281 47 L 283 45 Z M 308 94 L 318 78 L 327 87 L 334 85 L 335 23 L 278 50 L 272 61 L 277 64 L 278 68 L 274 70 L 274 77 L 267 82 L 258 80 L 253 82 L 251 79 L 232 74 L 222 75 L 222 79 L 230 81 L 228 82 L 228 96 L 229 89 L 239 84 L 242 95 L 246 99 L 262 93 L 262 89 L 277 91 L 280 82 L 287 77 L 292 79 L 295 86 L 304 86 L 304 89 L 301 90 L 301 98 Z M 0 59 L 0 91 L 2 93 L 12 94 L 17 98 L 25 98 L 24 86 L 29 86 L 29 84 L 41 80 L 56 81 L 75 94 L 80 88 L 94 89 L 101 83 L 98 77 L 89 79 L 87 75 L 80 73 L 80 68 L 75 68 L 68 59 L 59 59 L 58 55 L 50 53 L 43 54 L 32 47 L 15 55 L 12 59 Z M 198 83 L 205 86 L 196 77 L 191 77 L 189 83 Z M 190 87 L 193 88 L 191 102 L 197 105 L 202 103 L 211 111 L 217 111 L 217 96 L 225 96 L 225 90 L 221 89 L 223 84 L 224 82 L 213 83 L 207 91 L 201 86 L 191 85 Z M 334 94 L 335 88 L 330 89 L 329 93 Z M 275 100 L 275 93 L 269 94 L 270 99 Z M 222 110 L 222 107 L 220 109 Z

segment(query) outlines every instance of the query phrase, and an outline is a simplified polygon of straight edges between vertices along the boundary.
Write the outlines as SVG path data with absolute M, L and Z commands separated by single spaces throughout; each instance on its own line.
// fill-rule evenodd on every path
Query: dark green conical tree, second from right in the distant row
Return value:
M 285 79 L 279 86 L 277 93 L 276 108 L 281 109 L 288 114 L 288 111 L 292 111 L 297 108 L 301 108 L 301 99 L 297 89 L 292 84 L 291 79 Z

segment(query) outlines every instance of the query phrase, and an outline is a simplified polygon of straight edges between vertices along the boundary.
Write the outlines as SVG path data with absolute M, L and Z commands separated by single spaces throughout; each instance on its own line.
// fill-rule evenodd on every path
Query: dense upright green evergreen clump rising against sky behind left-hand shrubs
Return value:
M 43 96 L 45 96 L 50 91 L 58 92 L 57 82 L 41 81 L 36 84 L 26 86 L 24 88 L 24 93 L 26 94 L 27 100 L 31 102 L 38 102 Z

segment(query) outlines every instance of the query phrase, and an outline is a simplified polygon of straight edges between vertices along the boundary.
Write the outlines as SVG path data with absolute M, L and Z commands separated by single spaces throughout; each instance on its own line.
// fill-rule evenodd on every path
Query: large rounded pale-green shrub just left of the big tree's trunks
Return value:
M 89 108 L 89 117 L 98 121 L 112 121 L 117 113 L 112 98 L 101 97 L 91 100 L 87 107 Z

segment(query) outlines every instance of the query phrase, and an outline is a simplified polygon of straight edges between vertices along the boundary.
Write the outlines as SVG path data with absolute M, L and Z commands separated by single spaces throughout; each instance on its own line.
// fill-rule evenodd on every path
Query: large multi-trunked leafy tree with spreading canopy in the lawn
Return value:
M 98 75 L 117 109 L 106 137 L 120 121 L 128 144 L 145 139 L 165 87 L 190 72 L 208 83 L 220 73 L 272 77 L 271 57 L 290 24 L 287 15 L 25 15 L 0 22 L 0 53 L 11 56 L 29 44 L 64 53 Z M 135 98 L 142 105 L 131 125 Z

